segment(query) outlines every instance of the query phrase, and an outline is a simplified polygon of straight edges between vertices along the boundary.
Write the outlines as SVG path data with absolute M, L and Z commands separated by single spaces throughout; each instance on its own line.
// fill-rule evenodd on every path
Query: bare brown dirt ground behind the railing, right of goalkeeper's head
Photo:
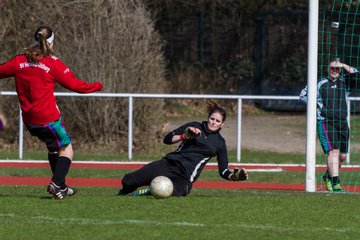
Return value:
M 174 129 L 182 123 L 184 121 L 172 122 L 169 127 Z M 241 129 L 242 148 L 271 152 L 305 153 L 305 114 L 244 115 Z M 226 140 L 228 150 L 236 149 L 236 118 L 226 120 L 221 135 Z

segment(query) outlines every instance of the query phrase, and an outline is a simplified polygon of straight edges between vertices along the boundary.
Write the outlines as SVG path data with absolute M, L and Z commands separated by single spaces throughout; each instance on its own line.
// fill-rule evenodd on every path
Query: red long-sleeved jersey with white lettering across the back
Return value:
M 0 65 L 0 78 L 14 77 L 25 124 L 44 125 L 60 118 L 54 96 L 55 82 L 78 93 L 102 89 L 99 82 L 86 83 L 57 57 L 42 58 L 30 63 L 24 54 Z

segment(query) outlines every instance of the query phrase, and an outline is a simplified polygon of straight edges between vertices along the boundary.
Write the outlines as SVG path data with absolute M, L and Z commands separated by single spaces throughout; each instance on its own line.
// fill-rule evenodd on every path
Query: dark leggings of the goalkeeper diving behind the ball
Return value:
M 174 184 L 173 196 L 186 196 L 192 188 L 191 182 L 181 175 L 180 167 L 164 158 L 125 174 L 122 179 L 123 188 L 121 192 L 128 194 L 139 187 L 149 186 L 157 176 L 166 176 L 171 179 Z

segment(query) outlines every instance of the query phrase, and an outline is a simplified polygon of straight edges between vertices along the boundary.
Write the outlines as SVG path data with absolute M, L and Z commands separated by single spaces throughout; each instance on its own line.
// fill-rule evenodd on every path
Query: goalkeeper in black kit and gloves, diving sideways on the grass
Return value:
M 168 153 L 161 160 L 146 164 L 139 170 L 126 174 L 122 178 L 122 189 L 118 195 L 150 195 L 149 186 L 157 176 L 166 176 L 173 182 L 173 196 L 186 196 L 192 184 L 212 157 L 217 157 L 219 175 L 230 181 L 248 179 L 245 169 L 229 169 L 227 148 L 220 135 L 226 120 L 226 111 L 214 101 L 208 101 L 207 121 L 189 122 L 169 132 L 163 142 L 174 144 L 181 142 L 176 151 Z

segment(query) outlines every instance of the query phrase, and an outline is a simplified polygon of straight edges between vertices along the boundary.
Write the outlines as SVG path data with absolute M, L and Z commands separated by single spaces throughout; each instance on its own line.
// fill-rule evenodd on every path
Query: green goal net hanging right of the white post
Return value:
M 359 10 L 360 1 L 319 1 L 318 191 L 360 192 Z

